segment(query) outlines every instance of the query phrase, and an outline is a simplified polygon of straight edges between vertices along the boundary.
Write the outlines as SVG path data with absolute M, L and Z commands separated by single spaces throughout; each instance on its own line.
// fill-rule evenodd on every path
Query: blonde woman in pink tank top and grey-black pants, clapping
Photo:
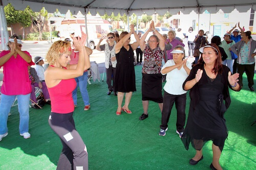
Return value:
M 88 169 L 87 148 L 75 128 L 72 98 L 72 91 L 76 87 L 74 78 L 83 75 L 84 70 L 90 68 L 89 56 L 84 46 L 86 38 L 87 35 L 83 32 L 81 38 L 73 38 L 79 51 L 77 64 L 69 64 L 71 44 L 68 41 L 54 42 L 46 55 L 50 66 L 45 71 L 45 82 L 52 107 L 49 125 L 63 145 L 57 169 Z

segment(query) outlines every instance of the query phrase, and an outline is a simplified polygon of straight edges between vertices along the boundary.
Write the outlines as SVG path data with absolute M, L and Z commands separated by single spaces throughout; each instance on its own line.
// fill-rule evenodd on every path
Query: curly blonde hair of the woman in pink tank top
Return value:
M 55 41 L 46 54 L 46 61 L 50 65 L 55 64 L 59 57 L 68 51 L 71 51 L 71 44 L 69 41 Z

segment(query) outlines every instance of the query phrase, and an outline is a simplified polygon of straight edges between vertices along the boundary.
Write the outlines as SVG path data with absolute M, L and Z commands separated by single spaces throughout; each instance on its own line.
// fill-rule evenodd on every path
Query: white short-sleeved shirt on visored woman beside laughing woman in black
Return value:
M 173 65 L 175 65 L 174 60 L 168 60 L 162 67 L 161 73 L 165 67 L 169 67 L 169 66 L 173 66 Z M 186 65 L 189 69 L 192 68 L 191 63 L 189 63 L 188 61 L 187 61 Z M 166 75 L 166 74 L 162 74 L 162 75 Z M 167 72 L 166 83 L 163 87 L 164 91 L 166 91 L 169 94 L 173 94 L 173 95 L 185 94 L 187 91 L 183 90 L 182 85 L 187 77 L 188 77 L 187 72 L 183 68 L 183 66 L 180 69 L 175 68 L 172 71 Z

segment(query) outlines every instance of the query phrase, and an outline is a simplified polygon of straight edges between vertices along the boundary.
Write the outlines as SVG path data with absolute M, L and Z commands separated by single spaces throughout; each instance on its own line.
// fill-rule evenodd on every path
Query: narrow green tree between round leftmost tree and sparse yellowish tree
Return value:
M 31 16 L 30 16 L 28 10 L 31 10 L 29 8 L 29 6 L 27 6 L 27 8 L 25 8 L 24 11 L 18 11 L 19 12 L 19 23 L 23 27 L 23 34 L 22 34 L 23 39 L 25 38 L 25 28 L 31 26 L 31 23 L 32 23 L 32 19 L 31 19 Z

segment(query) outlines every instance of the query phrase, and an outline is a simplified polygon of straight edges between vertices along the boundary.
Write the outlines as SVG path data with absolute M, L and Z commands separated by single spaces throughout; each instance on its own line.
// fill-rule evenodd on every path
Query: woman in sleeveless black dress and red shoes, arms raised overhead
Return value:
M 120 115 L 121 111 L 131 114 L 129 110 L 129 103 L 132 98 L 133 91 L 136 91 L 135 86 L 135 70 L 134 70 L 134 50 L 139 46 L 139 37 L 134 31 L 134 26 L 131 25 L 131 32 L 122 32 L 120 34 L 120 40 L 116 44 L 116 77 L 115 88 L 117 93 L 118 108 L 116 115 Z M 130 44 L 131 35 L 134 34 L 136 42 Z M 125 94 L 125 102 L 123 107 L 123 96 Z

